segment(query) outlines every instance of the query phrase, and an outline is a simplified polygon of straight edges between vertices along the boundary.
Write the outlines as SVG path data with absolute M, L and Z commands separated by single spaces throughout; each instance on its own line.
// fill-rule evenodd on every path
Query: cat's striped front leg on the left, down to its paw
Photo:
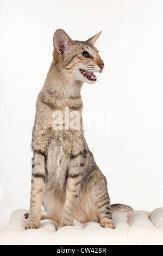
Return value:
M 45 183 L 45 155 L 41 151 L 35 152 L 32 160 L 32 184 L 30 209 L 26 229 L 39 228 L 41 221 L 42 188 Z

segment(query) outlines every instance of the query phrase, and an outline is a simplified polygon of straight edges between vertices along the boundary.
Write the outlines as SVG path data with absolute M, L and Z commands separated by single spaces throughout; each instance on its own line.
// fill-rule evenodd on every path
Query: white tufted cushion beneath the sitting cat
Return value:
M 26 212 L 12 212 L 9 224 L 0 231 L 0 245 L 163 245 L 163 208 L 113 214 L 115 229 L 74 220 L 73 226 L 58 231 L 52 220 L 41 221 L 39 229 L 25 230 Z

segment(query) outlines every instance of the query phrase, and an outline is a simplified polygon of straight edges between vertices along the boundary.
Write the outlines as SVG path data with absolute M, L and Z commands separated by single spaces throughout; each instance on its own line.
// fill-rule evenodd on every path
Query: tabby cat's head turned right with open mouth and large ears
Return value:
M 59 69 L 67 71 L 76 81 L 95 82 L 93 73 L 101 72 L 104 68 L 103 60 L 94 47 L 101 33 L 86 41 L 73 41 L 64 30 L 57 29 L 53 37 L 53 57 Z

